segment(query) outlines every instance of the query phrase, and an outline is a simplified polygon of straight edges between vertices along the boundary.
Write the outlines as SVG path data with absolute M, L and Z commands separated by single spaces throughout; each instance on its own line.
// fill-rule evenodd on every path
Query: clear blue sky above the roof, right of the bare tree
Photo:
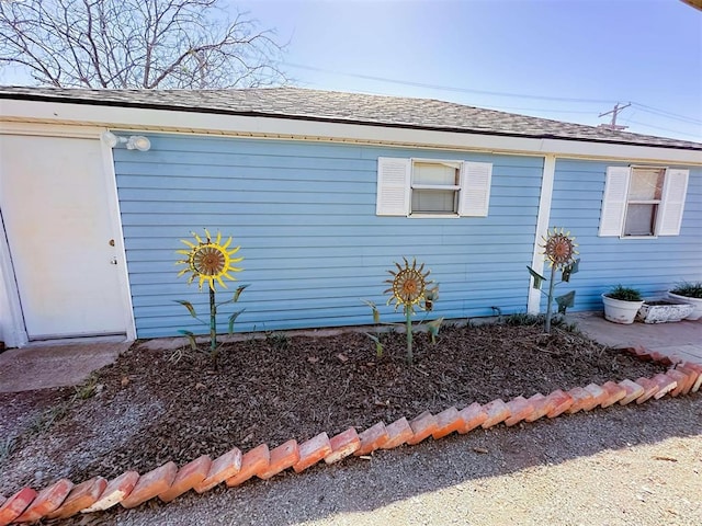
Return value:
M 231 1 L 296 85 L 702 141 L 702 11 L 680 0 Z

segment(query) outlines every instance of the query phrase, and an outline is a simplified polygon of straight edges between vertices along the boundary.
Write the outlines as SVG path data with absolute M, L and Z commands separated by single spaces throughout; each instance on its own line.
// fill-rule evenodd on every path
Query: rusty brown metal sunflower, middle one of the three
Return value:
M 411 265 L 406 258 L 403 258 L 405 265 L 395 263 L 396 271 L 387 271 L 393 276 L 392 279 L 386 279 L 385 283 L 390 284 L 390 288 L 383 294 L 390 293 L 390 298 L 387 300 L 387 305 L 395 301 L 395 310 L 403 307 L 405 312 L 405 327 L 407 334 L 407 362 L 412 363 L 412 315 L 416 308 L 422 310 L 432 310 L 433 301 L 439 299 L 439 286 L 428 288 L 433 284 L 433 281 L 428 281 L 427 277 L 430 271 L 424 272 L 424 264 L 417 266 L 417 260 L 412 259 Z M 375 315 L 374 309 L 374 315 Z M 439 332 L 439 325 L 441 320 L 437 320 L 428 324 L 429 333 L 432 341 Z

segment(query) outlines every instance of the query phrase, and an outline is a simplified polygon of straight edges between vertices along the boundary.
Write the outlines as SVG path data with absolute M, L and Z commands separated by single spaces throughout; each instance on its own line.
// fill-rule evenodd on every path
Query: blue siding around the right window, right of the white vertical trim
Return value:
M 618 164 L 556 162 L 550 226 L 570 230 L 581 259 L 580 272 L 559 287 L 564 293 L 577 291 L 573 310 L 602 310 L 600 295 L 620 283 L 656 297 L 676 282 L 702 279 L 702 169 L 690 170 L 680 236 L 598 237 L 607 167 Z

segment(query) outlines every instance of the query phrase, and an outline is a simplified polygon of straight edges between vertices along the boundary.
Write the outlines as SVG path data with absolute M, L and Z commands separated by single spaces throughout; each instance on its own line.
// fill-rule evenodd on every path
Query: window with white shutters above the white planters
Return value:
M 610 167 L 600 218 L 600 236 L 678 236 L 688 170 Z

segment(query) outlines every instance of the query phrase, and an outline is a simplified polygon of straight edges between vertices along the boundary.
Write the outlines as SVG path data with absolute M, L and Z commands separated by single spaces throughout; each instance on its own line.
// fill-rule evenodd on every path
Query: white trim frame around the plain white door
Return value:
M 117 285 L 120 300 L 124 313 L 124 328 L 126 339 L 136 340 L 136 325 L 134 321 L 134 308 L 129 290 L 129 276 L 127 273 L 126 252 L 124 248 L 124 231 L 120 217 L 120 198 L 114 171 L 112 148 L 101 140 L 102 134 L 107 128 L 97 126 L 63 126 L 33 123 L 0 123 L 0 138 L 2 135 L 25 135 L 41 137 L 61 137 L 93 139 L 100 141 L 102 152 L 102 171 L 105 178 L 105 197 L 107 199 L 109 219 L 114 232 L 115 256 L 120 266 Z M 20 289 L 14 276 L 14 266 L 10 256 L 10 245 L 4 229 L 2 210 L 0 210 L 0 336 L 8 347 L 21 347 L 29 343 L 30 339 L 24 324 L 24 315 L 20 301 Z

